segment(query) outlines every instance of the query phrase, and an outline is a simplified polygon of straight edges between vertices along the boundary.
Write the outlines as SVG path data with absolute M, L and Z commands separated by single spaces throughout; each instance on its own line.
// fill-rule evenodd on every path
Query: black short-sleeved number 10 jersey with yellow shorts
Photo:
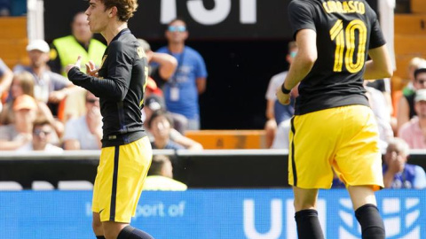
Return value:
M 383 187 L 378 131 L 363 73 L 369 49 L 385 44 L 365 0 L 293 0 L 294 36 L 317 34 L 318 58 L 299 86 L 289 145 L 289 182 L 330 188 L 332 167 L 346 185 Z M 377 187 L 378 188 L 378 187 Z

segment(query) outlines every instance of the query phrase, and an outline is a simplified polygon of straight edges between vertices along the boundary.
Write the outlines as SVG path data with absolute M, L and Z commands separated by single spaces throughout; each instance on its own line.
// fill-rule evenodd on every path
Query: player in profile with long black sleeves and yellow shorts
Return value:
M 93 231 L 97 238 L 153 238 L 130 227 L 152 160 L 142 127 L 141 107 L 147 78 L 144 50 L 130 33 L 127 21 L 137 0 L 90 0 L 86 10 L 91 32 L 107 42 L 99 69 L 92 62 L 86 72 L 81 58 L 67 67 L 69 80 L 100 99 L 103 116 L 102 150 L 93 189 Z

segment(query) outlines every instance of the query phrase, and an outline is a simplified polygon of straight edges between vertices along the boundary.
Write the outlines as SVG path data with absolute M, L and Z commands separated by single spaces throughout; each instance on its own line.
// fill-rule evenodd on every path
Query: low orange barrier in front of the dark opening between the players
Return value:
M 185 136 L 206 150 L 264 149 L 264 130 L 199 130 Z

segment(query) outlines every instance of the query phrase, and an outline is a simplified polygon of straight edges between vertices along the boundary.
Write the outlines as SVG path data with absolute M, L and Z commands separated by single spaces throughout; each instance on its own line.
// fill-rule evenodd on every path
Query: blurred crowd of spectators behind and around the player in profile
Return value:
M 75 14 L 71 27 L 72 35 L 55 39 L 51 46 L 43 40 L 29 42 L 29 66 L 11 70 L 0 58 L 0 150 L 101 148 L 99 98 L 73 85 L 65 72 L 78 56 L 83 64 L 90 61 L 98 68 L 106 46 L 93 39 L 84 12 Z M 202 150 L 201 143 L 185 137 L 185 130 L 200 127 L 197 95 L 206 86 L 204 62 L 200 54 L 185 46 L 183 20 L 170 22 L 166 35 L 173 54 L 180 57 L 168 50 L 154 52 L 148 42 L 139 39 L 151 64 L 142 109 L 146 131 L 154 149 Z M 85 66 L 81 69 L 85 71 Z M 43 147 L 38 145 L 40 141 Z

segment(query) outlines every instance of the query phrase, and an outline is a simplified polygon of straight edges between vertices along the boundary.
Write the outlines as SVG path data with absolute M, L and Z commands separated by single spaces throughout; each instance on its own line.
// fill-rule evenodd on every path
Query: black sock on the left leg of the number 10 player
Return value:
M 318 212 L 313 209 L 305 209 L 295 214 L 297 235 L 299 239 L 324 238 L 321 226 L 319 226 Z

